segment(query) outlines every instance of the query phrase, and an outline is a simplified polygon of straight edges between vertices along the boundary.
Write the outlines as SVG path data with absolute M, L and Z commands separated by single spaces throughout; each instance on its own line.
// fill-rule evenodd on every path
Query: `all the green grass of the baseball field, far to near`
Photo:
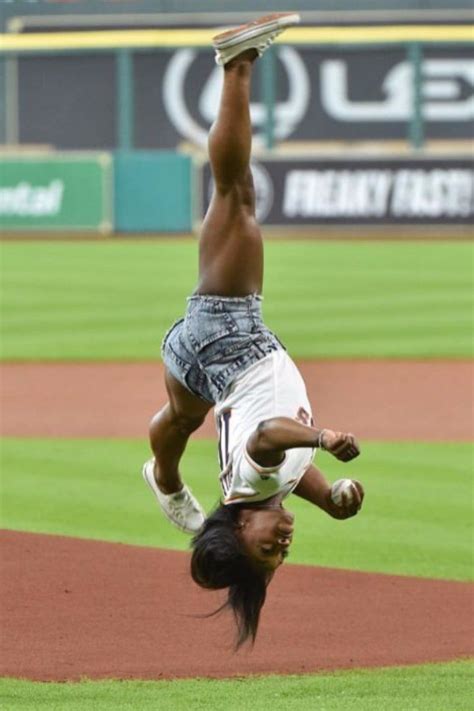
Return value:
M 155 359 L 196 281 L 192 240 L 0 247 L 4 360 Z M 269 242 L 265 318 L 295 357 L 470 357 L 472 256 L 461 242 Z M 288 562 L 472 579 L 472 448 L 362 444 L 364 456 L 349 466 L 367 489 L 363 513 L 334 522 L 291 497 L 297 530 Z M 145 439 L 7 438 L 2 525 L 185 549 L 141 481 L 147 456 Z M 319 462 L 331 478 L 348 473 L 324 454 Z M 215 444 L 193 442 L 183 469 L 212 508 Z M 472 680 L 472 665 L 458 661 L 229 681 L 5 679 L 0 696 L 8 711 L 468 711 Z

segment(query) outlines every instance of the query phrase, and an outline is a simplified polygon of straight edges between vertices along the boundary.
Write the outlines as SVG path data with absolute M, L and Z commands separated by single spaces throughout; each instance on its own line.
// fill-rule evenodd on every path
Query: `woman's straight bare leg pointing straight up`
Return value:
M 263 246 L 249 168 L 256 56 L 248 50 L 224 69 L 219 113 L 209 135 L 215 189 L 199 240 L 199 294 L 245 296 L 262 290 Z

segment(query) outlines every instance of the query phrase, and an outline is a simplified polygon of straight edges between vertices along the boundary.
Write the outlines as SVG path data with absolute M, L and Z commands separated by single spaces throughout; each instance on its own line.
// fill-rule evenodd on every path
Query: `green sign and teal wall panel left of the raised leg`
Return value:
M 191 158 L 172 152 L 10 154 L 0 161 L 5 231 L 190 232 Z

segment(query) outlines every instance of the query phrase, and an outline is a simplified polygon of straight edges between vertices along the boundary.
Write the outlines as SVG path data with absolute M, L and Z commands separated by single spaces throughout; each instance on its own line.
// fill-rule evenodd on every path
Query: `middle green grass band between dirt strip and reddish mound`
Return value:
M 469 580 L 469 444 L 363 443 L 344 465 L 316 461 L 335 480 L 359 478 L 363 512 L 335 521 L 296 496 L 289 563 Z M 144 441 L 6 439 L 2 447 L 2 525 L 144 546 L 186 550 L 187 536 L 162 516 L 141 478 Z M 219 499 L 215 443 L 191 441 L 186 481 L 210 511 Z

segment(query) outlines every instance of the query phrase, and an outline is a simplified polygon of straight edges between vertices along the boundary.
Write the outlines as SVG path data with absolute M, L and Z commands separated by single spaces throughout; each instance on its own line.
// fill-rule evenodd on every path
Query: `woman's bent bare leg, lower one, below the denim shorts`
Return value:
M 190 435 L 204 422 L 210 405 L 192 395 L 172 375 L 165 375 L 169 402 L 150 424 L 150 444 L 155 455 L 155 480 L 164 494 L 183 488 L 179 461 Z

